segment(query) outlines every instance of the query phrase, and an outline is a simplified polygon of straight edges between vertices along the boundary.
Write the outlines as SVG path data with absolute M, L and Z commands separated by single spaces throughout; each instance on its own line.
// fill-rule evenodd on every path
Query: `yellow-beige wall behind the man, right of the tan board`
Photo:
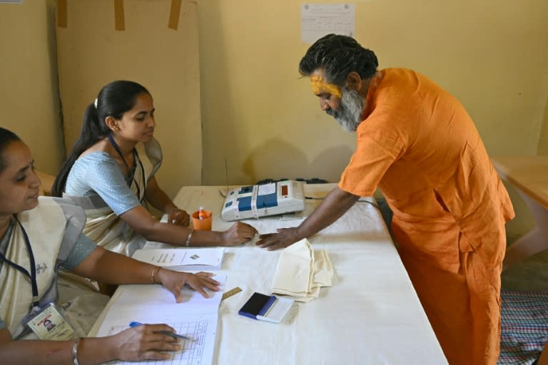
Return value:
M 355 146 L 320 112 L 298 62 L 295 0 L 199 1 L 203 183 L 338 181 Z M 315 1 L 325 2 L 325 1 Z M 238 6 L 235 6 L 235 3 Z M 548 1 L 355 1 L 380 68 L 425 73 L 460 98 L 492 155 L 535 154 L 548 90 Z

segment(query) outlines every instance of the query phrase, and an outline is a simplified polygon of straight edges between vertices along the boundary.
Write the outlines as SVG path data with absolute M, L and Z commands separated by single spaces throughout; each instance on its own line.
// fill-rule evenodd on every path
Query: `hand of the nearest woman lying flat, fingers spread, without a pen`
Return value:
M 208 298 L 209 295 L 205 292 L 205 288 L 218 292 L 220 282 L 211 279 L 213 274 L 210 272 L 198 272 L 197 274 L 191 274 L 188 272 L 176 272 L 168 269 L 161 268 L 158 270 L 158 279 L 166 289 L 175 295 L 177 303 L 181 303 L 183 295 L 181 295 L 181 289 L 186 285 L 196 290 L 196 292 Z

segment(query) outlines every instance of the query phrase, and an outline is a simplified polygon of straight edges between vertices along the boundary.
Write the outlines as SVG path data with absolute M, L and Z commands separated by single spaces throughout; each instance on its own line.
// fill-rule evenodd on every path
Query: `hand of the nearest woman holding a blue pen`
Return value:
M 167 324 L 141 324 L 104 339 L 108 341 L 108 348 L 113 349 L 116 359 L 168 360 L 171 359 L 171 354 L 166 354 L 165 351 L 178 351 L 181 345 L 178 344 L 178 339 L 161 334 L 160 331 L 175 332 Z

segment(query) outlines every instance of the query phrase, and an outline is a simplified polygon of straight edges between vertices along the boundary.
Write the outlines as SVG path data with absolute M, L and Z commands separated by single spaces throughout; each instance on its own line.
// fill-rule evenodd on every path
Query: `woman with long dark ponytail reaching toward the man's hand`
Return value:
M 257 231 L 242 222 L 225 232 L 188 227 L 189 215 L 173 204 L 154 176 L 162 160 L 153 138 L 154 110 L 151 94 L 138 83 L 104 86 L 86 108 L 80 137 L 52 195 L 71 197 L 83 207 L 88 218 L 84 233 L 93 242 L 128 256 L 146 240 L 188 247 L 235 246 L 252 239 Z M 166 213 L 168 222 L 158 222 L 146 202 Z

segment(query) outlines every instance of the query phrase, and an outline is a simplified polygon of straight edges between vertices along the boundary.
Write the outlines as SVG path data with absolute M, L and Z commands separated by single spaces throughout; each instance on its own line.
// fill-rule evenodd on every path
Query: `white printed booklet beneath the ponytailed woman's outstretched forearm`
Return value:
M 176 271 L 218 270 L 224 252 L 223 247 L 136 250 L 133 259 Z

